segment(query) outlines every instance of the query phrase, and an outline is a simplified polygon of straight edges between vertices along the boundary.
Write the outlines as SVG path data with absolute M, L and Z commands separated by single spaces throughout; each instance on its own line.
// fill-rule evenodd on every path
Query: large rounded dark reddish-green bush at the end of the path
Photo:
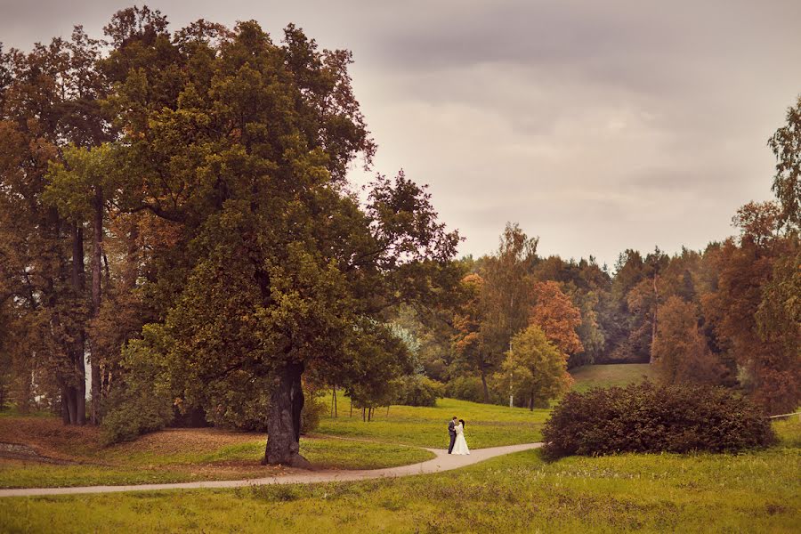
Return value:
M 720 387 L 656 385 L 568 393 L 543 427 L 546 455 L 714 452 L 775 441 L 754 403 Z

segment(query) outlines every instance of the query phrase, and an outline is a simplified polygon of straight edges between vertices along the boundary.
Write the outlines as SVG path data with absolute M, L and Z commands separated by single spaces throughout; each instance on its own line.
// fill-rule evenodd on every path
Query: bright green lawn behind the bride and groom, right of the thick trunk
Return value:
M 448 422 L 453 416 L 465 419 L 465 437 L 471 449 L 481 449 L 540 441 L 540 428 L 550 414 L 547 409 L 530 411 L 440 399 L 434 408 L 392 406 L 389 413 L 376 409 L 373 421 L 364 423 L 361 410 L 354 409 L 349 416 L 346 397 L 340 396 L 337 404 L 339 417 L 323 417 L 318 433 L 429 448 L 448 446 Z

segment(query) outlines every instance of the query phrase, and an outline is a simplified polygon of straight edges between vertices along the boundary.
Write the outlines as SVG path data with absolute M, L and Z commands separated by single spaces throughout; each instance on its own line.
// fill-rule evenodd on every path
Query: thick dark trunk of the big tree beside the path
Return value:
M 276 377 L 267 417 L 264 464 L 311 468 L 299 454 L 300 417 L 303 410 L 303 364 L 288 363 Z

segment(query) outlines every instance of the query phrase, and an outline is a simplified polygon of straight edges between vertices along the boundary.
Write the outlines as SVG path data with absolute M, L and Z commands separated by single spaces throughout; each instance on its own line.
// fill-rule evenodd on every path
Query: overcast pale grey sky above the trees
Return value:
M 0 0 L 0 41 L 101 36 L 128 5 Z M 461 254 L 493 252 L 507 222 L 540 255 L 610 266 L 626 248 L 724 239 L 739 206 L 772 198 L 766 142 L 801 93 L 796 0 L 149 5 L 172 29 L 253 19 L 279 41 L 294 22 L 351 50 L 372 172 L 429 184 Z

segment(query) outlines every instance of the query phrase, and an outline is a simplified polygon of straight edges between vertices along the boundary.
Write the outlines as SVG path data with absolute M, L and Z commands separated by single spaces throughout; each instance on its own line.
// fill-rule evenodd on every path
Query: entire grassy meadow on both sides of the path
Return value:
M 642 376 L 636 369 L 603 367 L 577 373 L 574 387 Z M 338 404 L 339 417 L 323 417 L 317 433 L 302 439 L 303 454 L 320 467 L 425 460 L 431 453 L 420 447 L 444 447 L 452 415 L 468 421 L 473 448 L 538 441 L 547 417 L 547 410 L 443 399 L 436 408 L 376 410 L 367 423 L 356 410 L 350 417 L 347 399 L 340 397 Z M 277 469 L 258 465 L 261 434 L 169 429 L 101 447 L 95 429 L 64 428 L 51 417 L 5 417 L 0 433 L 11 424 L 37 438 L 43 454 L 70 453 L 85 463 L 4 460 L 4 487 L 247 478 Z M 62 532 L 797 532 L 801 420 L 773 426 L 780 443 L 740 454 L 625 454 L 549 463 L 532 450 L 455 472 L 398 479 L 0 498 L 0 530 L 45 532 L 58 525 Z

